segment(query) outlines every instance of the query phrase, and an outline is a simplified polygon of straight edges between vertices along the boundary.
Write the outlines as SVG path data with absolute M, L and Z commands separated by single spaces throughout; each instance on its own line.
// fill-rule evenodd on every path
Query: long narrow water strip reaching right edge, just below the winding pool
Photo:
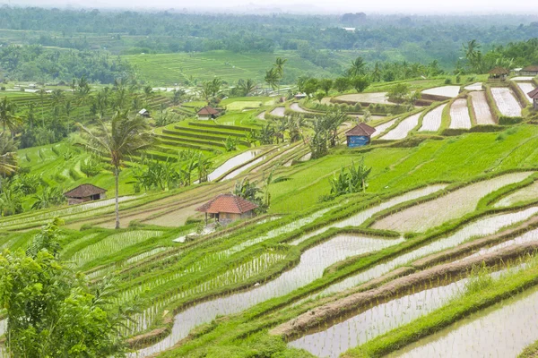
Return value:
M 324 291 L 316 296 L 334 294 L 336 292 L 358 286 L 373 278 L 381 277 L 393 269 L 411 262 L 412 260 L 417 260 L 431 253 L 455 247 L 471 239 L 472 237 L 495 234 L 502 227 L 516 224 L 529 217 L 532 217 L 536 213 L 538 213 L 538 207 L 521 210 L 516 213 L 500 214 L 493 217 L 482 218 L 473 222 L 472 224 L 464 226 L 464 228 L 457 231 L 455 234 L 451 234 L 444 239 L 437 240 L 434 243 L 430 243 L 416 250 L 404 253 L 394 260 L 381 263 L 373 268 L 369 268 L 366 271 L 361 272 L 358 275 L 346 278 L 333 286 L 328 286 Z

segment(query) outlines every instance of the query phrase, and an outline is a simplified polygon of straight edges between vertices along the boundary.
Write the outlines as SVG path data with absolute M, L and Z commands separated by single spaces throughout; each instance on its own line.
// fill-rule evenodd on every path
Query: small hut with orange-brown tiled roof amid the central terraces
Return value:
M 220 194 L 204 205 L 196 208 L 196 211 L 205 213 L 205 223 L 208 218 L 214 218 L 222 225 L 229 224 L 240 218 L 254 217 L 254 209 L 258 206 L 233 194 Z

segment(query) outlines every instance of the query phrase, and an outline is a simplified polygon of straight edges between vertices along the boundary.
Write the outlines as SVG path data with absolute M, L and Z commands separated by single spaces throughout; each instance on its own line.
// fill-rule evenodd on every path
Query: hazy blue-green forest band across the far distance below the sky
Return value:
M 17 30 L 0 34 L 4 45 L 106 48 L 113 54 L 290 49 L 317 64 L 324 62 L 319 50 L 359 50 L 367 61 L 427 64 L 437 60 L 447 69 L 461 56 L 462 44 L 471 39 L 490 49 L 533 38 L 538 18 L 136 13 L 4 6 L 0 29 Z

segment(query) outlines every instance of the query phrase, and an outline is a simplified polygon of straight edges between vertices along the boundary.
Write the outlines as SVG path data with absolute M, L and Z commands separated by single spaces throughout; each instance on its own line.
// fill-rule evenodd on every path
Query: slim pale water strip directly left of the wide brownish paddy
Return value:
M 338 221 L 336 223 L 331 224 L 330 226 L 322 227 L 316 231 L 313 231 L 308 234 L 304 234 L 299 237 L 299 239 L 291 242 L 291 245 L 298 245 L 299 243 L 302 243 L 306 240 L 308 240 L 310 237 L 315 236 L 317 234 L 325 233 L 328 229 L 331 227 L 345 227 L 345 226 L 360 226 L 362 223 L 364 223 L 367 219 L 372 217 L 374 214 L 377 214 L 380 211 L 383 211 L 385 209 L 394 207 L 395 205 L 401 204 L 405 201 L 409 200 L 415 200 L 418 198 L 421 198 L 426 195 L 430 195 L 433 192 L 438 192 L 444 188 L 446 188 L 447 185 L 445 184 L 438 184 L 438 185 L 430 185 L 426 188 L 422 188 L 416 191 L 412 192 L 406 192 L 404 195 L 397 196 L 393 199 L 386 200 L 385 202 L 382 202 L 381 204 L 370 208 L 360 211 L 358 214 L 353 215 L 352 217 L 348 217 L 342 221 Z

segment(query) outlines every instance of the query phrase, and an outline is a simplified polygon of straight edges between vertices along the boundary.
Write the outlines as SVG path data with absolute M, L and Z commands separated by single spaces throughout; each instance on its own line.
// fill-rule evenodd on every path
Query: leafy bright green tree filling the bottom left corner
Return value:
M 6 348 L 13 357 L 106 357 L 126 354 L 120 329 L 129 307 L 113 303 L 105 278 L 95 287 L 60 260 L 55 219 L 28 250 L 0 254 L 0 305 L 7 312 Z

